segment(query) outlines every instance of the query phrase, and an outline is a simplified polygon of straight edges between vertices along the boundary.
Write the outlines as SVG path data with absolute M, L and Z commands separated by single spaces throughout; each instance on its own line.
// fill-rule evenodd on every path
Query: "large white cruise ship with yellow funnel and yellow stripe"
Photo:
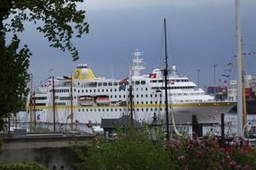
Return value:
M 165 122 L 163 72 L 154 69 L 142 74 L 144 69 L 142 53 L 137 50 L 130 69 L 133 117 L 151 123 L 155 113 Z M 55 115 L 56 123 L 100 124 L 102 118 L 129 114 L 129 84 L 128 78 L 97 78 L 87 64 L 79 64 L 72 80 L 71 76 L 57 77 L 42 83 L 28 99 L 28 112 L 31 120 L 39 123 L 53 123 Z M 187 77 L 181 77 L 176 66 L 172 66 L 167 87 L 168 106 L 176 123 L 191 123 L 191 115 L 197 115 L 199 123 L 220 123 L 221 113 L 227 113 L 235 105 L 216 101 Z M 169 117 L 171 121 L 172 116 Z

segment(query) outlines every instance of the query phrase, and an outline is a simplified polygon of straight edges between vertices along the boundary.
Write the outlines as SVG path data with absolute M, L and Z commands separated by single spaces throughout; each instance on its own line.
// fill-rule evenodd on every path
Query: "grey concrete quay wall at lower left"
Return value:
M 48 169 L 73 170 L 75 153 L 72 146 L 88 146 L 93 138 L 88 135 L 0 139 L 3 142 L 0 164 L 38 162 Z

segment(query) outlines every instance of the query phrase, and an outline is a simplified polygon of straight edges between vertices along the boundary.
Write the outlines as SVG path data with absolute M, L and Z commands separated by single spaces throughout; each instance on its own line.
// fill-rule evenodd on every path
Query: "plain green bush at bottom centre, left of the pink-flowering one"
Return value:
M 76 150 L 77 151 L 77 150 Z M 78 152 L 78 169 L 172 169 L 168 152 L 152 143 L 147 134 L 129 131 L 116 140 L 96 143 L 85 154 Z

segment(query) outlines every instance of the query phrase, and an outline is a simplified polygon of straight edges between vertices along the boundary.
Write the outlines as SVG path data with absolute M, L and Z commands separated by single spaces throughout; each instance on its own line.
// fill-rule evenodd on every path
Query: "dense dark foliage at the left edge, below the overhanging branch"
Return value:
M 31 55 L 27 46 L 18 50 L 20 40 L 13 36 L 11 45 L 4 47 L 0 57 L 0 130 L 8 113 L 17 113 L 23 105 L 22 97 L 26 88 Z

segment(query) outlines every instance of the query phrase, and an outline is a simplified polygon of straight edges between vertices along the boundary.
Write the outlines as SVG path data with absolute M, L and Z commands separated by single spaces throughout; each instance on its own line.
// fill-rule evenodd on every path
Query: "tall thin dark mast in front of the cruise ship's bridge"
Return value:
M 169 112 L 168 112 L 168 94 L 167 94 L 167 78 L 168 78 L 168 55 L 167 55 L 167 39 L 166 39 L 166 21 L 165 18 L 163 20 L 164 22 L 164 69 L 163 69 L 163 76 L 164 76 L 164 104 L 165 104 L 165 118 L 166 118 L 166 140 L 168 141 L 170 139 L 170 130 L 169 130 Z

